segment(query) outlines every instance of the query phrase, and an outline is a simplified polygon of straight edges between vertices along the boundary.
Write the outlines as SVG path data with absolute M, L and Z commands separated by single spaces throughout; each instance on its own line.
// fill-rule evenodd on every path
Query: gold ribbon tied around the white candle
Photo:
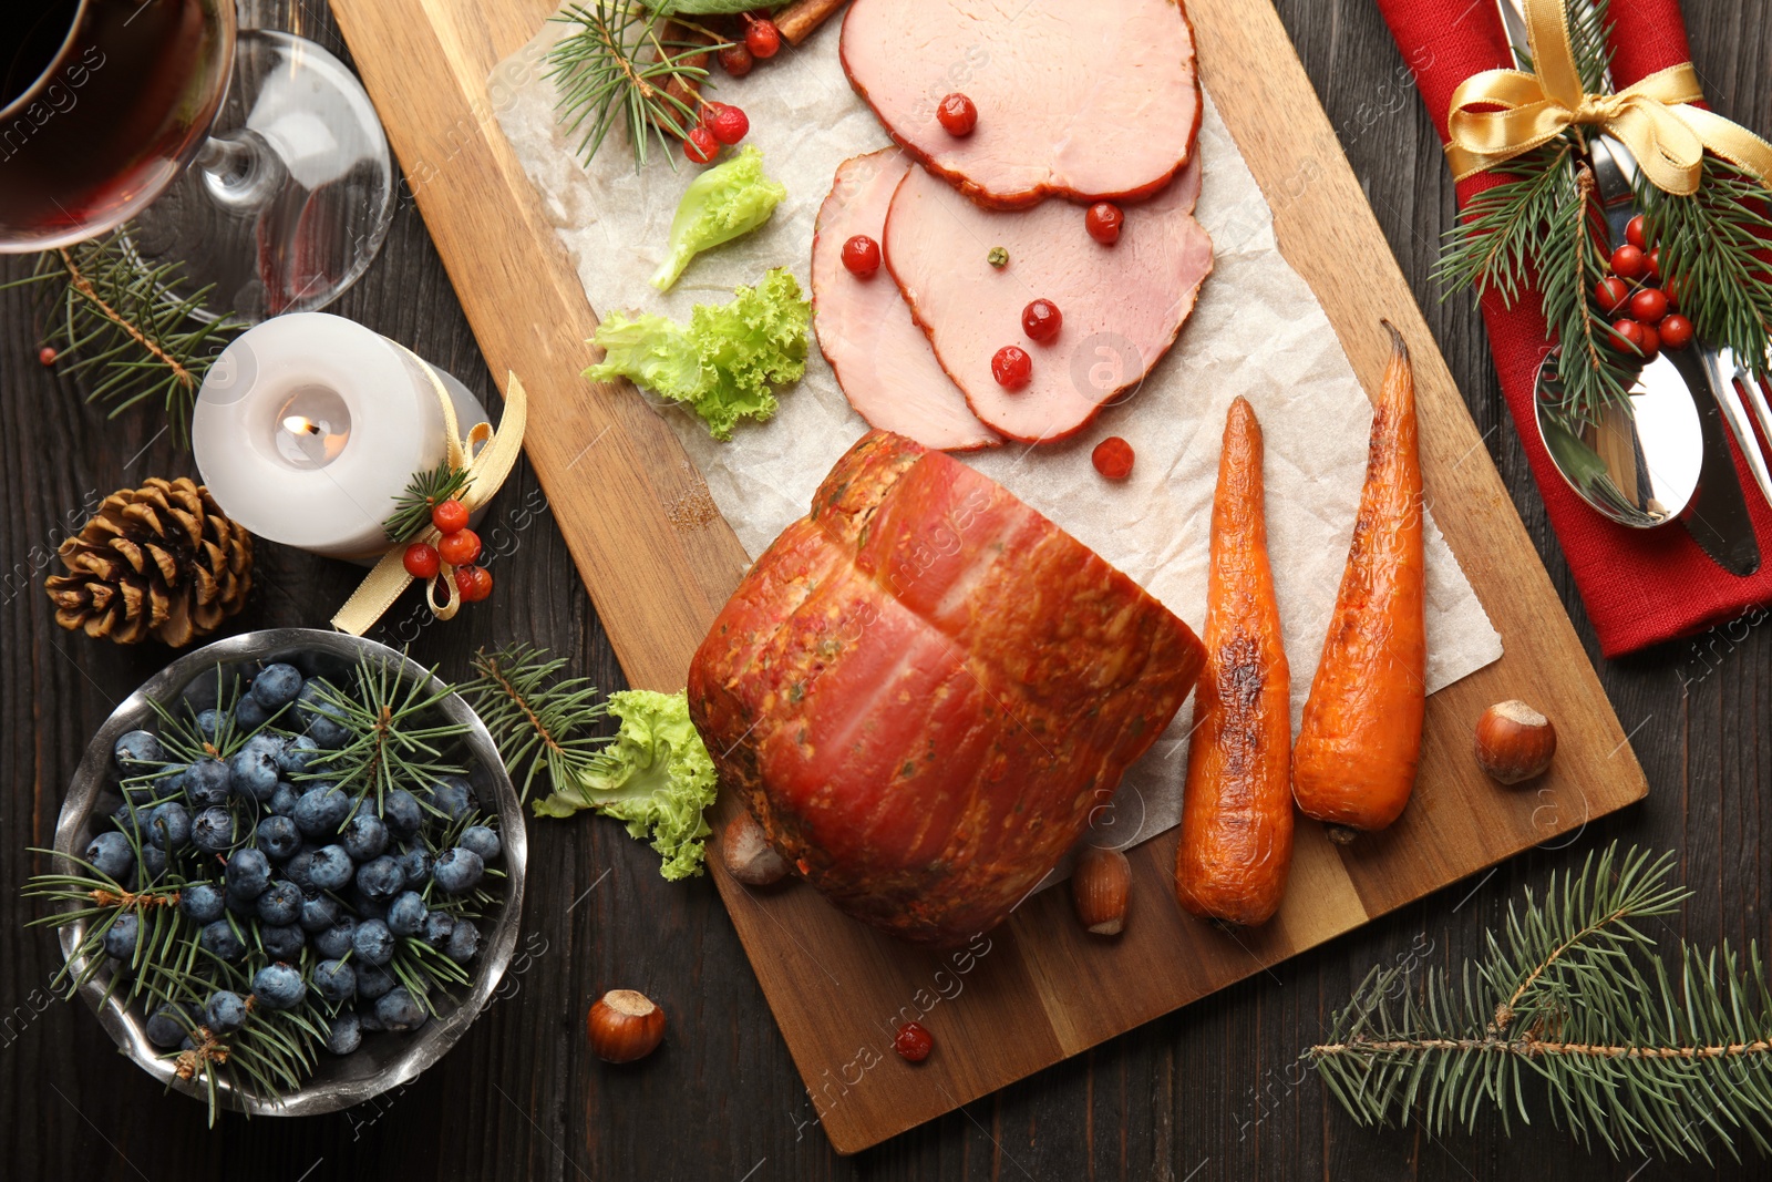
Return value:
M 443 436 L 448 441 L 448 466 L 452 471 L 468 471 L 468 482 L 462 486 L 461 493 L 455 496 L 470 512 L 493 500 L 500 486 L 505 484 L 505 477 L 517 463 L 517 455 L 523 452 L 523 427 L 528 424 L 528 395 L 523 392 L 523 383 L 516 374 L 505 383 L 505 415 L 498 422 L 498 431 L 493 431 L 491 424 L 475 424 L 466 436 L 461 434 L 461 427 L 455 422 L 455 402 L 448 397 L 448 388 L 443 386 L 443 379 L 438 372 L 431 369 L 431 363 L 422 356 L 400 346 L 418 367 L 424 370 L 425 377 L 431 379 L 431 388 L 438 395 L 438 406 L 443 408 Z M 475 450 L 478 448 L 478 450 Z M 388 549 L 376 564 L 376 569 L 369 572 L 361 587 L 353 592 L 351 599 L 338 608 L 338 615 L 333 617 L 333 627 L 342 633 L 351 633 L 353 636 L 361 636 L 383 613 L 393 606 L 393 601 L 411 585 L 413 576 L 406 572 L 406 548 L 413 540 L 432 542 L 443 533 L 436 526 L 425 528 L 416 539 L 408 539 Z M 443 603 L 438 603 L 438 585 L 443 585 Z M 431 578 L 425 588 L 425 601 L 431 604 L 431 611 L 436 613 L 439 620 L 454 618 L 455 611 L 461 610 L 461 592 L 455 588 L 454 569 L 447 564 L 436 576 Z

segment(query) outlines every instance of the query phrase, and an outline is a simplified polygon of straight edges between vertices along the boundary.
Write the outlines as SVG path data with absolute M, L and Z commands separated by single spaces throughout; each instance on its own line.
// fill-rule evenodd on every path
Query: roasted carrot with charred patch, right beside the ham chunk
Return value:
M 1230 404 L 1212 496 L 1207 668 L 1182 789 L 1175 897 L 1187 911 L 1262 923 L 1292 868 L 1292 673 L 1267 565 L 1262 425 Z

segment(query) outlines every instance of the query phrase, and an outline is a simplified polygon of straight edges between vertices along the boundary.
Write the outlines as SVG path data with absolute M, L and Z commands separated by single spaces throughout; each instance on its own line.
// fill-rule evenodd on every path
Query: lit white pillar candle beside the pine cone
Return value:
M 436 372 L 466 436 L 486 408 Z M 448 441 L 422 363 L 354 321 L 294 312 L 209 367 L 191 450 L 222 512 L 259 537 L 369 560 L 388 548 L 381 525 L 413 473 L 436 468 Z

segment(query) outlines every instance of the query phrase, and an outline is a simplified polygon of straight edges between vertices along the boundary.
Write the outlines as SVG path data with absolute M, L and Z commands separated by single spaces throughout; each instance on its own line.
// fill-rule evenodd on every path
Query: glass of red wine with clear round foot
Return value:
M 0 253 L 129 223 L 257 323 L 337 299 L 392 214 L 381 121 L 323 46 L 234 0 L 0 0 Z

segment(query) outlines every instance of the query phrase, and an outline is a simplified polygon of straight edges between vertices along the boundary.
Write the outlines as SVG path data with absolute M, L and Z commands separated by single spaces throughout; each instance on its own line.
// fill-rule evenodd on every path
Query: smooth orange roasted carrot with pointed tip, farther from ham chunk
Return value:
M 1292 751 L 1299 808 L 1338 842 L 1403 812 L 1426 711 L 1416 379 L 1402 335 L 1386 328 L 1391 365 L 1372 416 L 1354 542 Z

